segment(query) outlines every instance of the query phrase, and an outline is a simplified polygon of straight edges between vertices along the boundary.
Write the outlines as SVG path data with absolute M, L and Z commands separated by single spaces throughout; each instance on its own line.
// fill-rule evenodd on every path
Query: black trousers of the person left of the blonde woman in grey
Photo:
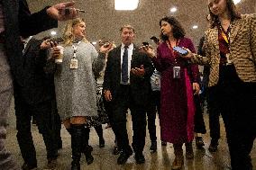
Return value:
M 52 123 L 52 101 L 39 104 L 25 103 L 21 98 L 15 97 L 15 114 L 17 140 L 24 162 L 36 166 L 36 152 L 32 140 L 31 121 L 34 115 L 38 130 L 41 133 L 47 150 L 47 158 L 58 157 L 57 143 L 55 139 L 54 124 Z

